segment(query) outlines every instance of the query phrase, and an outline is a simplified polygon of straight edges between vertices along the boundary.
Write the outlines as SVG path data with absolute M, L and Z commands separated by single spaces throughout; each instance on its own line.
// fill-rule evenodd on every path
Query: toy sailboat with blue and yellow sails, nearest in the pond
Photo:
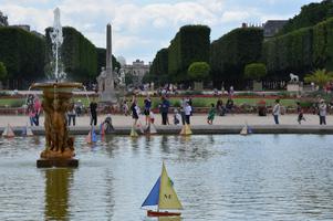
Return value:
M 148 217 L 176 217 L 180 215 L 180 212 L 168 212 L 165 210 L 183 210 L 183 206 L 174 189 L 174 183 L 168 177 L 164 162 L 162 175 L 142 204 L 142 208 L 148 206 L 157 206 L 157 211 L 147 211 Z

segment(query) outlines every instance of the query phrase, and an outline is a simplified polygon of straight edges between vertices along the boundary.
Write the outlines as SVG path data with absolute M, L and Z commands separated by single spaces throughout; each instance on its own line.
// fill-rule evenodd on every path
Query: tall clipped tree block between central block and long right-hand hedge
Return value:
M 210 46 L 210 67 L 215 84 L 239 85 L 244 66 L 261 59 L 263 31 L 258 28 L 235 29 Z M 233 85 L 233 86 L 235 86 Z

